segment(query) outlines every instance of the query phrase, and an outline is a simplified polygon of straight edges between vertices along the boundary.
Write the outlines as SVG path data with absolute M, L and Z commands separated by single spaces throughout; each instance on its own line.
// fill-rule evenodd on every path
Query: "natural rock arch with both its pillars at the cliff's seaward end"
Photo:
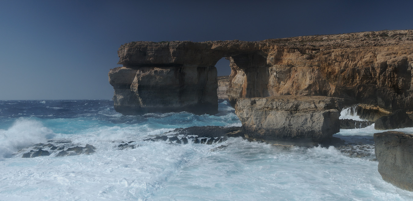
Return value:
M 230 60 L 228 95 L 267 97 L 267 55 L 258 47 L 246 49 L 231 42 L 132 42 L 119 48 L 119 64 L 109 72 L 115 90 L 116 111 L 125 115 L 148 112 L 190 111 L 215 114 L 218 111 L 215 64 Z M 238 45 L 231 48 L 230 45 Z M 254 44 L 250 42 L 247 44 Z M 246 44 L 243 44 L 246 45 Z M 239 80 L 238 82 L 235 80 Z

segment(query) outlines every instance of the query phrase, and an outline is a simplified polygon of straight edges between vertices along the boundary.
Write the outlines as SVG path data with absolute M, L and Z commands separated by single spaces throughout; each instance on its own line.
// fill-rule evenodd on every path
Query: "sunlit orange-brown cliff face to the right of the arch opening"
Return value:
M 228 94 L 234 101 L 324 95 L 344 98 L 347 105 L 412 110 L 412 34 L 403 30 L 266 40 L 273 46 L 264 51 L 265 70 L 242 69 L 231 60 Z M 248 85 L 258 93 L 249 94 Z

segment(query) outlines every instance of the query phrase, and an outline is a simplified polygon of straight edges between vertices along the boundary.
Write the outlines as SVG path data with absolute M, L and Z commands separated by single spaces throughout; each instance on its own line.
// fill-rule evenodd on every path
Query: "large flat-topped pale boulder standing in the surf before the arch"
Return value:
M 341 102 L 323 96 L 239 98 L 235 113 L 249 138 L 320 142 L 339 132 Z

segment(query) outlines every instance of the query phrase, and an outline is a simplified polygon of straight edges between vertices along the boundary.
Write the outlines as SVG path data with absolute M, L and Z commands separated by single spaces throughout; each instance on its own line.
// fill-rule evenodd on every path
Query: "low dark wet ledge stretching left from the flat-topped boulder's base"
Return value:
M 175 132 L 178 135 L 196 135 L 198 137 L 243 137 L 241 127 L 223 127 L 223 126 L 192 126 L 188 128 L 177 128 L 173 131 L 166 132 L 169 134 Z

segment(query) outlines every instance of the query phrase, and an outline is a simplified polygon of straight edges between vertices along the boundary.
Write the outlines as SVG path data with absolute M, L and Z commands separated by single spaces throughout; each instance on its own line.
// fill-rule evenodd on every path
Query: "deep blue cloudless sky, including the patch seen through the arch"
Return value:
M 112 99 L 133 41 L 259 41 L 413 29 L 413 1 L 0 0 L 0 100 Z M 221 59 L 218 76 L 229 75 Z

